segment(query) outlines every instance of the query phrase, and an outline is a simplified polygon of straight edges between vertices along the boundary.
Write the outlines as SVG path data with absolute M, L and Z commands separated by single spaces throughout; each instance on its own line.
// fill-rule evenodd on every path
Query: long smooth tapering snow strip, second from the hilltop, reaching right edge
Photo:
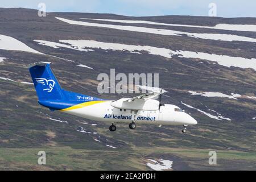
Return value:
M 158 34 L 158 35 L 171 35 L 171 36 L 187 35 L 192 38 L 201 38 L 201 39 L 210 39 L 210 40 L 256 42 L 256 39 L 254 38 L 238 36 L 238 35 L 230 35 L 230 34 L 198 34 L 198 33 L 181 32 L 181 31 L 157 29 L 157 28 L 89 23 L 89 22 L 82 22 L 82 21 L 70 20 L 70 19 L 59 18 L 59 17 L 55 17 L 55 18 L 69 24 L 76 24 L 81 26 L 105 27 L 105 28 L 113 28 L 117 30 L 135 31 L 135 32 L 143 32 L 143 33 Z

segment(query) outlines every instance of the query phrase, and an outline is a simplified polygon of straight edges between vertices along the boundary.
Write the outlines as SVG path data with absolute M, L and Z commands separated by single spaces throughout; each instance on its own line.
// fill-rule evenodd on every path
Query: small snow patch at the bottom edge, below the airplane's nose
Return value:
M 147 160 L 151 161 L 151 163 L 147 163 L 147 166 L 150 167 L 151 169 L 154 169 L 155 171 L 172 169 L 173 162 L 171 160 L 158 159 L 159 162 L 153 159 L 147 159 Z

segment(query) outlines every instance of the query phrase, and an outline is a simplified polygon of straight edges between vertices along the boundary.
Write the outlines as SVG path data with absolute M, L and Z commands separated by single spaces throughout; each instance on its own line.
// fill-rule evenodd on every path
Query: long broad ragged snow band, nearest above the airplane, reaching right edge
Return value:
M 35 40 L 35 41 L 46 42 L 44 40 Z M 203 59 L 203 60 L 209 60 L 209 61 L 216 61 L 218 64 L 223 65 L 225 67 L 234 66 L 234 67 L 240 67 L 240 68 L 253 68 L 256 70 L 256 59 L 254 58 L 246 59 L 244 57 L 215 55 L 215 54 L 209 54 L 204 52 L 172 51 L 171 49 L 167 49 L 167 48 L 159 48 L 159 47 L 152 47 L 152 46 L 135 46 L 135 45 L 127 45 L 127 44 L 119 44 L 119 43 L 105 43 L 105 42 L 97 42 L 95 40 L 60 40 L 60 42 L 68 43 L 71 45 L 69 46 L 69 48 L 76 49 L 78 51 L 84 51 L 85 48 L 97 48 L 97 49 L 113 50 L 113 51 L 128 51 L 130 53 L 134 53 L 138 51 L 143 51 L 143 52 L 146 51 L 148 54 L 159 55 L 167 58 L 172 58 L 172 56 L 179 56 L 179 57 L 185 57 L 185 58 Z M 55 42 L 49 42 L 49 43 L 58 44 Z M 45 44 L 45 46 L 48 46 L 48 44 Z M 89 49 L 86 49 L 86 50 L 89 50 Z M 92 49 L 90 50 L 93 51 Z

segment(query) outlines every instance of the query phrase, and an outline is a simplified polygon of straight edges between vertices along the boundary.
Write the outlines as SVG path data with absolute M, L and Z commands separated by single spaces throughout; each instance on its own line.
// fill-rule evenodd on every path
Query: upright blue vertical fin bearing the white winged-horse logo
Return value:
M 35 65 L 30 68 L 30 74 L 34 82 L 36 94 L 39 101 L 43 100 L 63 100 L 63 89 L 57 81 L 49 64 Z

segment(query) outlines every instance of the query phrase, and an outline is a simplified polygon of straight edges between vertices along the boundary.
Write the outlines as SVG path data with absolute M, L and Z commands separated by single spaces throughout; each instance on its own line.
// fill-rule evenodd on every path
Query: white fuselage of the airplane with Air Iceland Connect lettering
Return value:
M 197 122 L 190 115 L 175 105 L 163 105 L 159 110 L 134 110 L 117 109 L 110 105 L 113 101 L 101 101 L 96 104 L 75 107 L 63 112 L 77 115 L 94 121 L 112 123 L 130 123 L 135 117 L 135 122 L 156 125 L 196 125 Z

